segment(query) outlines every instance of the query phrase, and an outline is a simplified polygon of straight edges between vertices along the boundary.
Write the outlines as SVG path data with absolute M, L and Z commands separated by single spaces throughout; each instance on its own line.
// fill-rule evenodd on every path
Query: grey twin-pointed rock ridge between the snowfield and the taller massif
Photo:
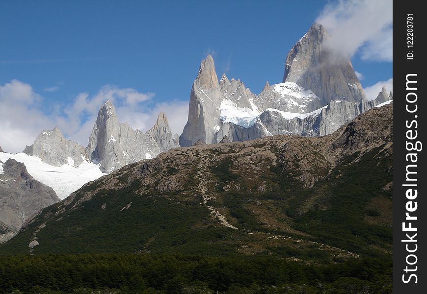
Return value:
M 159 114 L 150 130 L 142 133 L 128 123 L 119 123 L 113 104 L 106 101 L 98 113 L 86 154 L 90 160 L 101 162 L 101 171 L 108 173 L 178 146 L 164 113 Z

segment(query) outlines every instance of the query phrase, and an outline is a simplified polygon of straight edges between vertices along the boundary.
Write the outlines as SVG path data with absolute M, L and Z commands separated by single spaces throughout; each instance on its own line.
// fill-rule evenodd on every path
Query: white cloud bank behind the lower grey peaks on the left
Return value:
M 78 94 L 68 105 L 56 103 L 46 115 L 40 103 L 43 98 L 29 84 L 12 80 L 0 85 L 0 146 L 7 152 L 22 151 L 43 129 L 55 125 L 68 139 L 86 146 L 98 111 L 107 99 L 114 103 L 119 121 L 128 122 L 134 129 L 148 130 L 163 111 L 172 132 L 181 134 L 187 122 L 188 101 L 156 102 L 154 98 L 152 93 L 106 85 L 95 95 Z

